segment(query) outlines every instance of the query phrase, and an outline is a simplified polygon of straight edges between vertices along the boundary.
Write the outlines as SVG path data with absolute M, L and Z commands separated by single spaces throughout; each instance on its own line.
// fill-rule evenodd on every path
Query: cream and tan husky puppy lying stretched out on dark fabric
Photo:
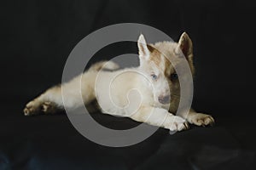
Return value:
M 98 62 L 71 81 L 49 88 L 30 101 L 25 116 L 51 114 L 59 109 L 76 109 L 96 99 L 103 113 L 126 116 L 137 122 L 164 127 L 172 131 L 189 128 L 189 123 L 207 126 L 214 123 L 212 116 L 190 110 L 175 116 L 180 99 L 180 85 L 170 60 L 182 55 L 194 75 L 192 41 L 183 32 L 178 42 L 147 44 L 143 35 L 138 38 L 140 65 L 117 70 L 118 65 Z M 102 71 L 108 69 L 112 71 Z M 81 83 L 81 89 L 78 84 Z M 62 93 L 65 92 L 65 93 Z M 66 95 L 66 100 L 62 100 Z M 82 95 L 82 100 L 81 100 Z M 64 98 L 63 98 L 64 99 Z

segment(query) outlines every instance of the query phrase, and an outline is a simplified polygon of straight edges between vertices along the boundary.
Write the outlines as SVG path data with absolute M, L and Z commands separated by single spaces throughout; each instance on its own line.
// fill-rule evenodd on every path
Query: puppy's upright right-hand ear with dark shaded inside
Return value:
M 180 50 L 183 52 L 186 59 L 189 61 L 193 60 L 193 44 L 186 32 L 183 32 L 179 38 L 179 41 L 177 42 L 176 53 L 178 54 Z

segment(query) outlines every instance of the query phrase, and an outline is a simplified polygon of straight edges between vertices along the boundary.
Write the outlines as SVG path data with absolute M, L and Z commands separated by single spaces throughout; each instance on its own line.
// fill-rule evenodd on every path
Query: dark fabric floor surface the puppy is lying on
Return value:
M 138 125 L 127 118 L 92 114 L 113 128 Z M 140 144 L 110 148 L 80 135 L 65 114 L 9 116 L 1 120 L 0 169 L 254 169 L 253 120 L 216 117 L 214 127 L 159 129 Z

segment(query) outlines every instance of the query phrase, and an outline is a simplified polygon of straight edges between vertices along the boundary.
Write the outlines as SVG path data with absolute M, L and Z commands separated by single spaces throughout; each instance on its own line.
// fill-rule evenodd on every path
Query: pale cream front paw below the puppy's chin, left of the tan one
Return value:
M 186 130 L 189 129 L 189 123 L 180 116 L 173 116 L 169 123 L 169 129 L 172 132 Z

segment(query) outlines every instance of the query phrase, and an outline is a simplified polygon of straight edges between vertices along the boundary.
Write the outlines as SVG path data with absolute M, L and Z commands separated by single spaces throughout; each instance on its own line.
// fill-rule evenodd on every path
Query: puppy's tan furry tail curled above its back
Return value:
M 119 69 L 119 65 L 114 63 L 113 61 L 100 61 L 94 65 L 91 65 L 89 71 L 100 71 L 102 69 L 114 71 Z

